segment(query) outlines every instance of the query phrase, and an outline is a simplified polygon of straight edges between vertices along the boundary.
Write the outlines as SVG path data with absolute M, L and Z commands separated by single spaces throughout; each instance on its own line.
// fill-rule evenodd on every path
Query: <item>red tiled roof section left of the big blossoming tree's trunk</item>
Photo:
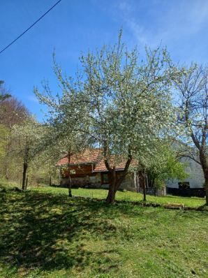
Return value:
M 70 156 L 70 164 L 87 164 L 87 163 L 98 163 L 101 160 L 101 149 L 85 149 L 80 154 L 72 154 Z M 62 157 L 58 162 L 57 166 L 68 164 L 67 154 Z

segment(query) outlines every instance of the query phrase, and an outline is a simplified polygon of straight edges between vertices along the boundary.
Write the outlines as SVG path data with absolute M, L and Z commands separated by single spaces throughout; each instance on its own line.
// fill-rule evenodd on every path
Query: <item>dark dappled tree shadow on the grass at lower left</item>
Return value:
M 107 254 L 89 251 L 91 236 L 105 235 L 105 240 L 117 233 L 117 228 L 99 210 L 112 210 L 104 203 L 62 195 L 36 192 L 6 193 L 0 207 L 0 263 L 10 268 L 30 270 L 60 270 L 74 266 L 82 269 L 94 262 L 97 271 L 116 268 Z M 112 210 L 113 211 L 113 210 Z M 108 214 L 108 213 L 107 213 Z M 102 259 L 101 259 L 102 258 Z

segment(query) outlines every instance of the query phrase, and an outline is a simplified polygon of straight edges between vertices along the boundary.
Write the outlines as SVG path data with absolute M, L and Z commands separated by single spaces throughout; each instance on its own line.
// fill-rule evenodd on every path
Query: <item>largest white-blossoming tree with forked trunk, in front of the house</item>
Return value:
M 164 49 L 146 50 L 144 61 L 137 49 L 128 51 L 121 43 L 103 46 L 96 53 L 80 57 L 76 78 L 64 76 L 54 61 L 54 72 L 62 94 L 54 96 L 45 85 L 45 94 L 36 96 L 48 105 L 50 122 L 73 126 L 87 134 L 103 149 L 105 166 L 111 175 L 107 203 L 131 166 L 133 157 L 152 151 L 155 138 L 165 136 L 172 122 L 170 87 L 176 74 Z M 112 154 L 117 158 L 111 161 Z M 116 164 L 126 159 L 124 173 L 116 176 Z

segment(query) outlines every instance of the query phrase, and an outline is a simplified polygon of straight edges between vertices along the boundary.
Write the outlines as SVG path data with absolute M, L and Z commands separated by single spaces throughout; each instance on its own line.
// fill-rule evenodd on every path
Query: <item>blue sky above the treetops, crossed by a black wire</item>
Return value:
M 0 49 L 57 0 L 0 1 Z M 48 80 L 54 91 L 52 52 L 73 75 L 81 52 L 114 43 L 123 27 L 129 47 L 167 45 L 175 62 L 208 61 L 208 0 L 62 0 L 27 34 L 0 54 L 0 80 L 42 119 L 34 85 Z M 42 109 L 44 109 L 42 107 Z

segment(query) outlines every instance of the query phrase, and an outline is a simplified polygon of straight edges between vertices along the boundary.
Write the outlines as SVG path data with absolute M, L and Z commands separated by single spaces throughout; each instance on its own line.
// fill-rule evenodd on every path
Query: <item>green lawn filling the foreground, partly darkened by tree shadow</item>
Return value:
M 106 205 L 66 192 L 0 193 L 0 277 L 207 277 L 207 212 Z M 117 198 L 141 198 L 131 194 Z

